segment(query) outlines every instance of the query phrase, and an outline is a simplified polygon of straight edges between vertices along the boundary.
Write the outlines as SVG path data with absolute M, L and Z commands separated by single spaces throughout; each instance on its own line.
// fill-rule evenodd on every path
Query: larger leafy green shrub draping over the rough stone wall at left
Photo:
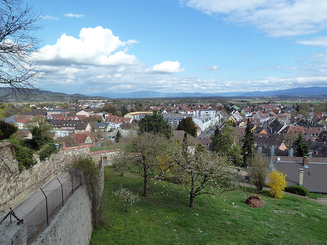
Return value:
M 29 169 L 37 163 L 33 159 L 33 151 L 24 146 L 24 142 L 21 139 L 10 138 L 9 141 L 13 147 L 15 159 L 18 161 L 20 171 L 22 171 L 24 167 Z

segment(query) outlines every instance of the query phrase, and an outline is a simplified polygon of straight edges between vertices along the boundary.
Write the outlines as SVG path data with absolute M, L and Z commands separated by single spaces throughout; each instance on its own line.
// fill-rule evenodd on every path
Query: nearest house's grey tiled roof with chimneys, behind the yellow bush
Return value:
M 327 158 L 273 156 L 269 168 L 286 175 L 287 186 L 300 185 L 310 192 L 327 193 Z

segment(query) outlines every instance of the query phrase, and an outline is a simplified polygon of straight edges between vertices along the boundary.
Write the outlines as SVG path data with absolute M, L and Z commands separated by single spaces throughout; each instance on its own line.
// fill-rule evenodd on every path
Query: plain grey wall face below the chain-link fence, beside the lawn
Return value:
M 91 201 L 78 188 L 32 245 L 87 245 L 92 232 Z

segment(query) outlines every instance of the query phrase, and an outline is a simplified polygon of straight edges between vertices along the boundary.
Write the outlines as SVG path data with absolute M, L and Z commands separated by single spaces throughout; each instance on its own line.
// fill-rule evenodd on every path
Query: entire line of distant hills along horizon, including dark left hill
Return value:
M 291 88 L 285 90 L 271 90 L 271 91 L 253 91 L 253 92 L 227 92 L 227 93 L 162 93 L 155 91 L 136 91 L 129 93 L 103 93 L 97 96 L 82 95 L 79 93 L 66 94 L 44 90 L 28 89 L 24 93 L 17 93 L 13 95 L 12 91 L 8 88 L 0 87 L 0 99 L 3 102 L 29 102 L 29 103 L 42 103 L 42 102 L 67 102 L 73 100 L 95 100 L 105 98 L 168 98 L 168 97 L 266 97 L 266 96 L 279 96 L 279 97 L 296 97 L 296 96 L 314 96 L 314 97 L 327 97 L 327 87 L 309 87 L 309 88 Z

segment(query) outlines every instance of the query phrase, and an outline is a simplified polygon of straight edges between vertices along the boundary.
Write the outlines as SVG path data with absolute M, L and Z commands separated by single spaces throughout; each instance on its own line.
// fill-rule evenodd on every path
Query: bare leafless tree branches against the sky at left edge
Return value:
M 0 85 L 14 94 L 37 89 L 45 75 L 37 56 L 41 39 L 35 35 L 40 17 L 21 0 L 0 0 Z

